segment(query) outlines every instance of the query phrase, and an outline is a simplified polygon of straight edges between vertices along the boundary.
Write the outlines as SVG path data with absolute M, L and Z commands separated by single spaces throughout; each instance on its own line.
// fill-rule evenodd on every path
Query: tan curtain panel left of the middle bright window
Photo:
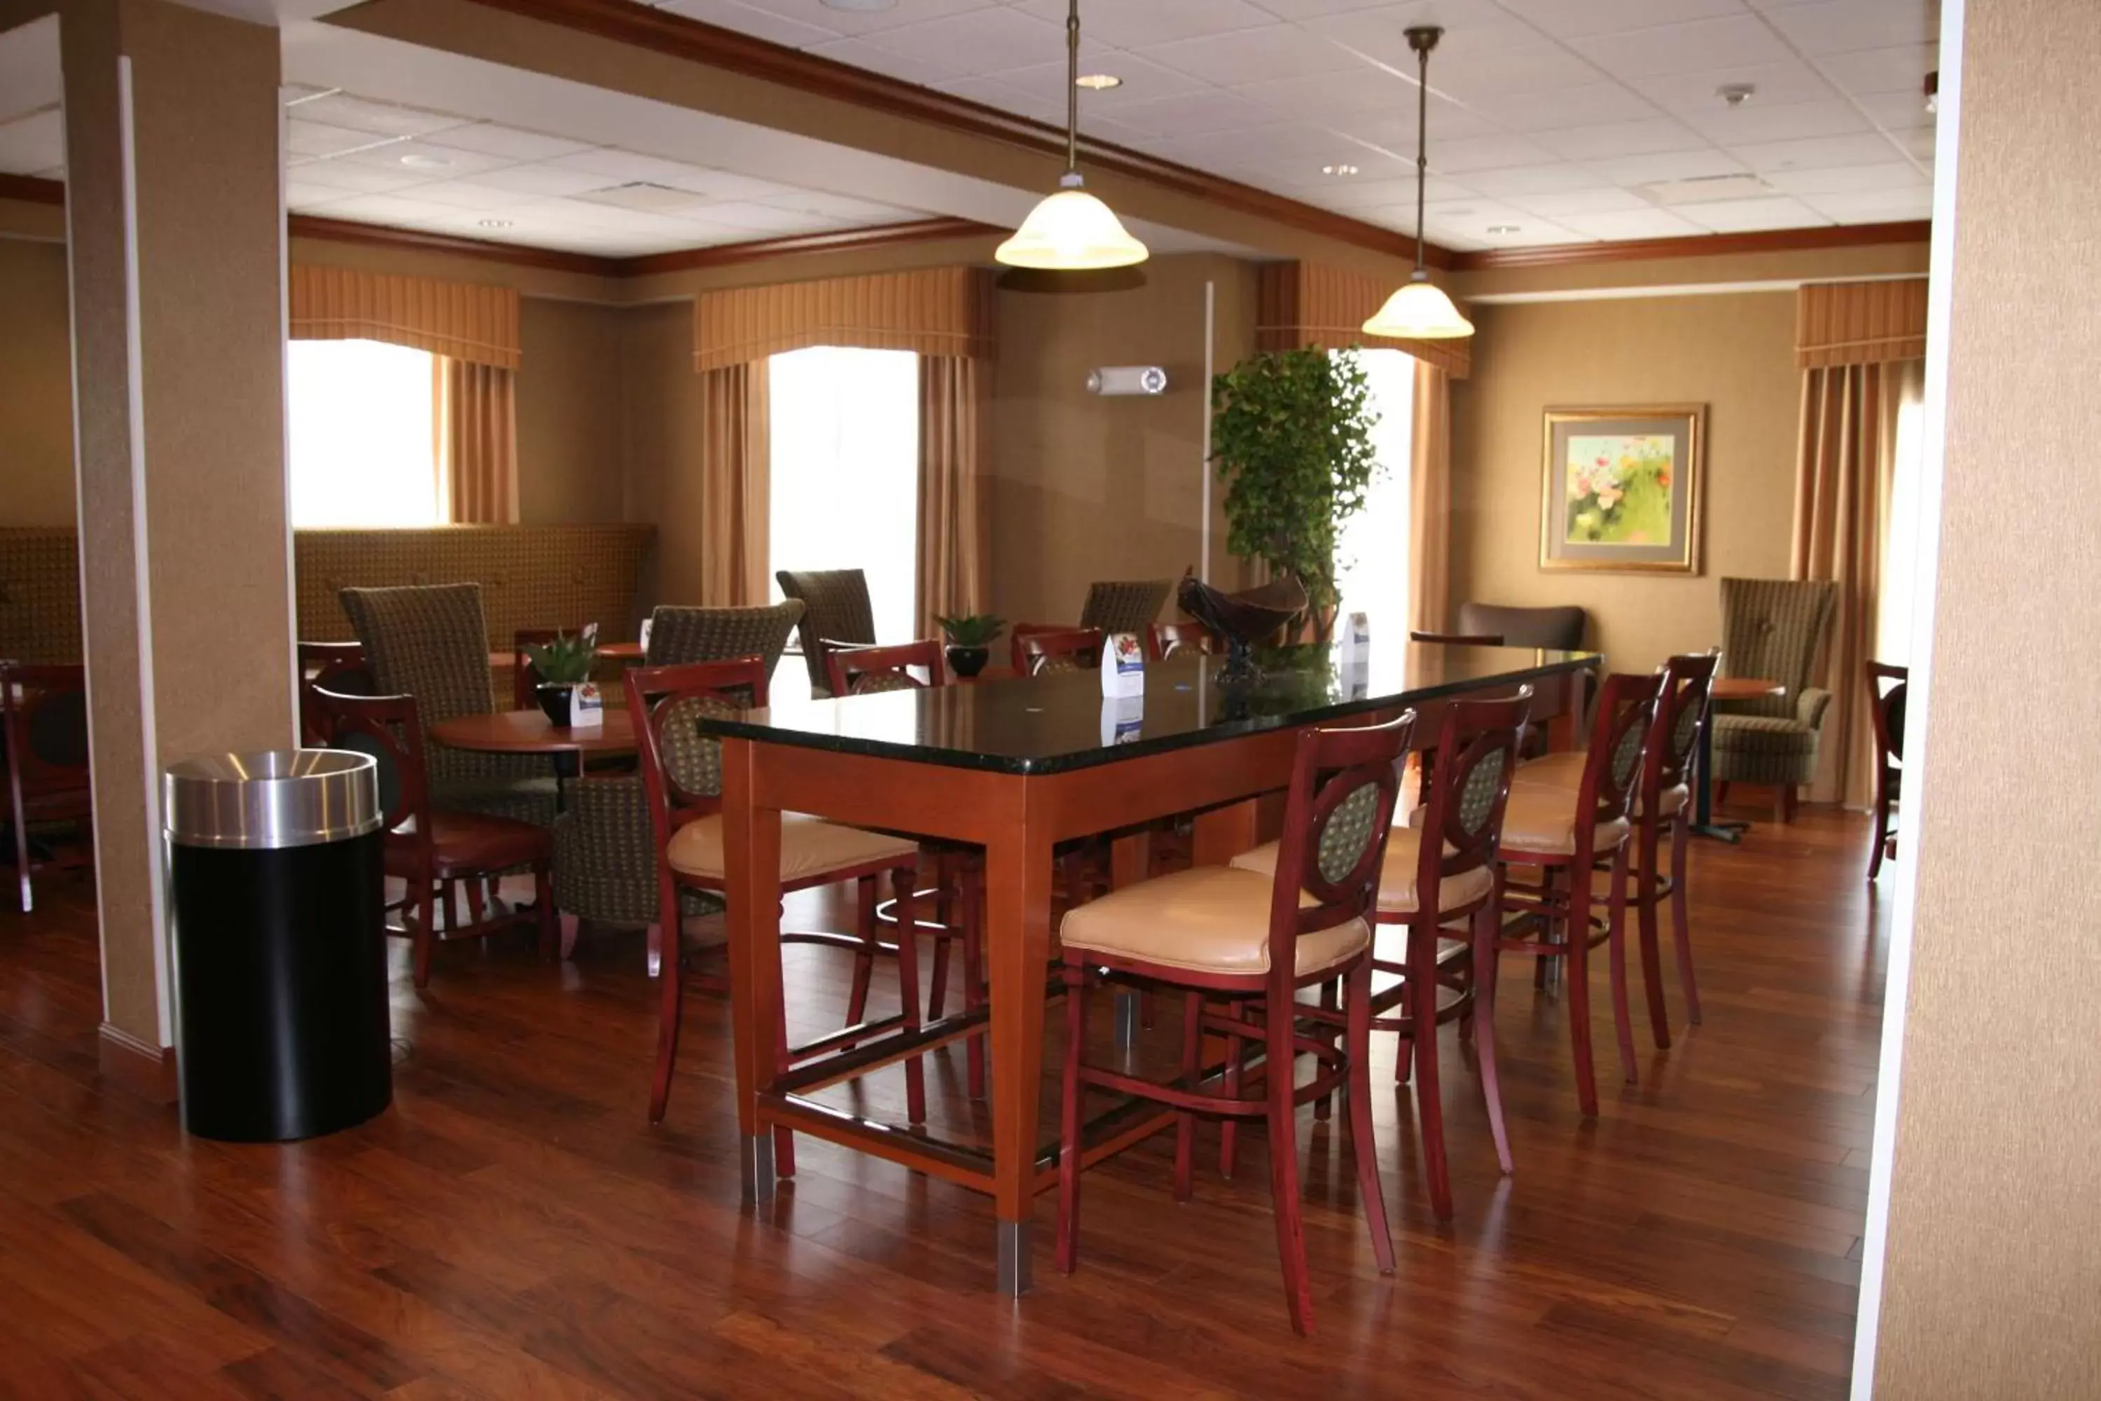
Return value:
M 756 607 L 769 601 L 773 529 L 767 361 L 710 370 L 702 376 L 700 412 L 700 603 Z

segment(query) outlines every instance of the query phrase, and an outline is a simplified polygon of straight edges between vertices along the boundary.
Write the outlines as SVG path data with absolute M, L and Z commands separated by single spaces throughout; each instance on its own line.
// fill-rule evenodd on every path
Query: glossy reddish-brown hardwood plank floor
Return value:
M 1448 1057 L 1452 1227 L 1382 1040 L 1399 1275 L 1372 1267 L 1340 1132 L 1305 1111 L 1311 1340 L 1286 1323 L 1258 1130 L 1233 1183 L 1204 1130 L 1189 1206 L 1170 1138 L 1088 1174 L 1072 1277 L 1040 1199 L 1019 1302 L 992 1292 L 990 1201 L 889 1164 L 805 1138 L 777 1204 L 740 1208 L 725 1006 L 693 996 L 649 1128 L 632 935 L 561 968 L 525 941 L 448 947 L 420 996 L 397 949 L 387 1115 L 282 1149 L 189 1141 L 97 1082 L 90 895 L 55 876 L 36 916 L 0 914 L 0 1395 L 1843 1397 L 1885 968 L 1866 842 L 1864 819 L 1813 811 L 1698 846 L 1706 1025 L 1670 1052 L 1643 1040 L 1626 1088 L 1599 996 L 1593 1124 L 1563 1006 L 1506 966 L 1517 1176 Z M 809 1029 L 838 1015 L 832 960 L 792 956 Z M 1174 1036 L 1164 1015 L 1151 1038 Z M 958 1080 L 943 1052 L 931 1082 L 971 1120 Z

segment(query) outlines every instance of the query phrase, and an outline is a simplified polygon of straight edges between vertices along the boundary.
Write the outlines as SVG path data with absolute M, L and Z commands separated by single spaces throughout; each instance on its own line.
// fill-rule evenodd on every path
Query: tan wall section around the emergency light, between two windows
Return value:
M 1128 292 L 1000 292 L 992 611 L 1076 622 L 1090 580 L 1179 578 L 1200 563 L 1206 281 L 1225 370 L 1254 349 L 1250 263 L 1153 258 Z M 1099 365 L 1162 365 L 1168 393 L 1090 395 L 1086 374 Z M 1231 567 L 1223 525 L 1212 565 Z

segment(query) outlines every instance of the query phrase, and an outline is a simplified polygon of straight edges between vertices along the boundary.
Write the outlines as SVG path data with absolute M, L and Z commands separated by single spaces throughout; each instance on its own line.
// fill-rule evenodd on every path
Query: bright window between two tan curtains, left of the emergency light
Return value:
M 769 363 L 771 569 L 861 569 L 876 641 L 916 634 L 918 355 L 813 347 Z M 779 584 L 773 599 L 782 597 Z

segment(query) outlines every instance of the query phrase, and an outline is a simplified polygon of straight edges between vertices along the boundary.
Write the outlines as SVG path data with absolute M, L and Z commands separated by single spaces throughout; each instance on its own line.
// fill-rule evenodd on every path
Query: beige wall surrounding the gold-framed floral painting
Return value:
M 1794 510 L 1794 294 L 1477 307 L 1452 386 L 1452 607 L 1576 603 L 1614 670 L 1721 641 L 1721 576 L 1784 578 Z M 1548 405 L 1706 403 L 1698 576 L 1540 569 Z

